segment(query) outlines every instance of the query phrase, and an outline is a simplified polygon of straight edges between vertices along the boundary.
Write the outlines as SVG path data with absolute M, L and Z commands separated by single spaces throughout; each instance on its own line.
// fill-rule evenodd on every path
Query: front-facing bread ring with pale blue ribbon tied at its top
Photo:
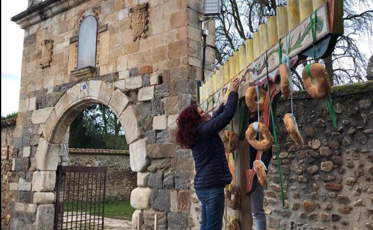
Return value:
M 261 122 L 258 123 L 258 132 L 261 133 L 261 135 L 263 136 L 261 141 L 258 141 L 256 139 L 257 132 L 255 132 L 254 130 L 254 123 L 251 123 L 245 133 L 246 140 L 255 149 L 265 151 L 272 146 L 272 134 L 271 132 L 269 132 L 268 127 Z

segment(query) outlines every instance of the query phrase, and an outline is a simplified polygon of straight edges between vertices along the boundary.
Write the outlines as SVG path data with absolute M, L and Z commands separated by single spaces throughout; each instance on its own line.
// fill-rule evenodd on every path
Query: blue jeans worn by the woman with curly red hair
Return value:
M 221 230 L 224 214 L 224 186 L 195 192 L 202 203 L 201 230 Z

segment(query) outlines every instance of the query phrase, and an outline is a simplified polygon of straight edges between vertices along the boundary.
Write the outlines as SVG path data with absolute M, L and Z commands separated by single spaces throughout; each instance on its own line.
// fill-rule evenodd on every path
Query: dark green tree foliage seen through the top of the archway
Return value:
M 128 150 L 119 119 L 103 104 L 90 105 L 76 116 L 70 125 L 69 147 Z

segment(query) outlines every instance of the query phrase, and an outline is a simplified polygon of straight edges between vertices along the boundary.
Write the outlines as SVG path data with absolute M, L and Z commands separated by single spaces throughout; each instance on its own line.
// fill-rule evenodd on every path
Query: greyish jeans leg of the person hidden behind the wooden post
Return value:
M 264 189 L 259 184 L 256 189 L 251 193 L 251 213 L 253 214 L 253 220 L 256 225 L 256 230 L 266 230 L 267 221 L 266 214 L 263 208 Z

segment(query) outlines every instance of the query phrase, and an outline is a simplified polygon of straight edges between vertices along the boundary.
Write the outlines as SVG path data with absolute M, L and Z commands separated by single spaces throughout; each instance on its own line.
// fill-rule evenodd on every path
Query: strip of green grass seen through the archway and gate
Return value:
M 102 208 L 97 208 L 99 205 L 96 203 L 96 208 L 94 208 L 94 204 L 88 204 L 87 212 L 91 215 L 101 216 Z M 85 212 L 85 203 L 79 202 L 78 204 L 74 203 L 73 205 L 64 204 L 63 211 L 71 211 L 73 212 Z M 113 218 L 113 219 L 120 219 L 120 220 L 131 220 L 132 214 L 134 213 L 135 209 L 131 207 L 129 201 L 106 201 L 105 202 L 105 210 L 104 210 L 104 217 Z M 99 214 L 98 214 L 99 213 Z M 71 215 L 71 214 L 70 214 Z

